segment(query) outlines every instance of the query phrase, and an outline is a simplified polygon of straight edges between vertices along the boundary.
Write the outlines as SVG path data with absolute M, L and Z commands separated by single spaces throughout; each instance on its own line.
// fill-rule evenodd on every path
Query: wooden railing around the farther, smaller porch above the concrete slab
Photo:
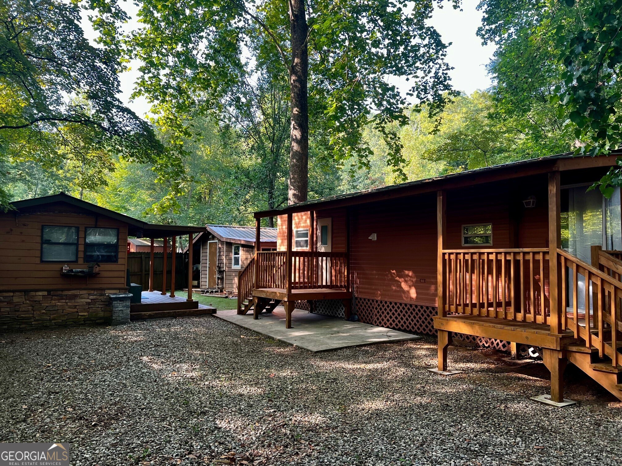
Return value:
M 256 255 L 259 280 L 256 288 L 287 288 L 284 251 L 261 251 Z M 313 288 L 348 289 L 348 255 L 345 252 L 292 251 L 292 290 Z

